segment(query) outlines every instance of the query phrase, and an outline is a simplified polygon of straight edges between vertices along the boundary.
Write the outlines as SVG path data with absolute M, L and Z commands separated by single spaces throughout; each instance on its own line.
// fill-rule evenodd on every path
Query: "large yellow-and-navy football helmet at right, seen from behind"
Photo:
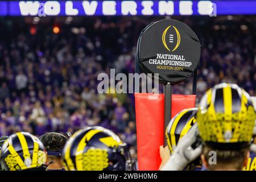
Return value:
M 236 84 L 218 84 L 201 99 L 196 115 L 204 143 L 220 150 L 248 147 L 255 111 L 249 94 Z

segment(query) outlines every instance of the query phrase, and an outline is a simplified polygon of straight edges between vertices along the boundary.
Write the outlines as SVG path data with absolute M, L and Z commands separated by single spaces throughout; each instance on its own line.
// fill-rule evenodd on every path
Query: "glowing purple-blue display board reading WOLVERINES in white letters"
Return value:
M 256 1 L 1 1 L 0 16 L 240 15 Z

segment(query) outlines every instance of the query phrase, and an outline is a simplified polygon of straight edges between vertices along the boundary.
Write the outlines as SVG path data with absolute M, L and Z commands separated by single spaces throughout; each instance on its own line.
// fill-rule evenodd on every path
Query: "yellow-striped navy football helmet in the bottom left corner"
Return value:
M 15 133 L 3 143 L 0 164 L 2 171 L 46 170 L 46 152 L 34 135 Z

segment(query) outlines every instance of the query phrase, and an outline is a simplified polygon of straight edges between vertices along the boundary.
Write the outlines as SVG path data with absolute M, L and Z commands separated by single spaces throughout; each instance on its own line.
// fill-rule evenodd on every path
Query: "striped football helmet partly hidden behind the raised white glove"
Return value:
M 197 108 L 181 110 L 169 122 L 166 128 L 166 138 L 171 153 L 174 151 L 179 140 L 188 133 L 189 129 L 196 122 L 195 115 L 197 110 Z

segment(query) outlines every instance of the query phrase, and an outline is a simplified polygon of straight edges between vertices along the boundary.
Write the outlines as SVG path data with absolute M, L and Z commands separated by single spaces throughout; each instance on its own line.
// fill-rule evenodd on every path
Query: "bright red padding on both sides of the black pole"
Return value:
M 159 147 L 164 143 L 164 94 L 135 93 L 139 170 L 159 169 Z M 195 107 L 195 95 L 172 94 L 172 117 Z

